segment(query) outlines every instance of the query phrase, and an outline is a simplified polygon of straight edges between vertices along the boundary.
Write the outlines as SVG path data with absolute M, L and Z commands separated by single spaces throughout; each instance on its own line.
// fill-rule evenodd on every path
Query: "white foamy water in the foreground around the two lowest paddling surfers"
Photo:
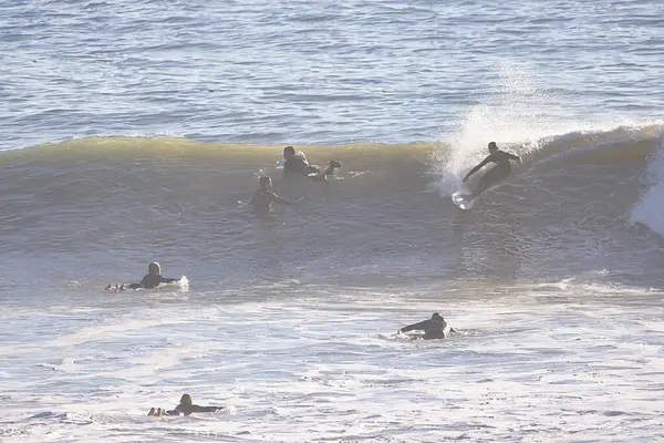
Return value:
M 656 435 L 664 322 L 658 303 L 644 302 L 656 293 L 570 280 L 496 289 L 507 296 L 473 301 L 453 291 L 442 302 L 434 293 L 385 293 L 377 302 L 376 293 L 355 292 L 345 300 L 319 295 L 315 303 L 132 308 L 83 328 L 75 326 L 85 322 L 80 316 L 61 313 L 72 324 L 69 336 L 49 339 L 44 329 L 41 346 L 3 353 L 0 435 L 7 442 Z M 641 307 L 620 306 L 635 299 Z M 458 329 L 448 340 L 396 336 L 435 310 Z M 230 409 L 144 416 L 152 406 L 175 406 L 185 392 L 198 404 Z

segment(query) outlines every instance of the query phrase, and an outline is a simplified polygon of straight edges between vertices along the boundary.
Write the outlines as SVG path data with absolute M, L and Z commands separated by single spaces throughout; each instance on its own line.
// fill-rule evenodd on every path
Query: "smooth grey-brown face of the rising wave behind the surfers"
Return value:
M 228 287 L 570 275 L 657 281 L 662 190 L 649 190 L 644 177 L 660 131 L 618 127 L 540 140 L 537 148 L 508 144 L 523 164 L 471 212 L 447 195 L 450 177 L 476 158 L 459 162 L 444 144 L 297 146 L 314 164 L 345 165 L 340 179 L 323 184 L 282 179 L 282 146 L 72 140 L 0 154 L 0 239 L 14 276 L 29 266 L 35 275 L 92 275 L 100 284 L 139 277 L 151 260 L 160 260 L 165 275 Z M 279 195 L 303 197 L 278 210 L 277 224 L 242 204 L 262 174 Z

